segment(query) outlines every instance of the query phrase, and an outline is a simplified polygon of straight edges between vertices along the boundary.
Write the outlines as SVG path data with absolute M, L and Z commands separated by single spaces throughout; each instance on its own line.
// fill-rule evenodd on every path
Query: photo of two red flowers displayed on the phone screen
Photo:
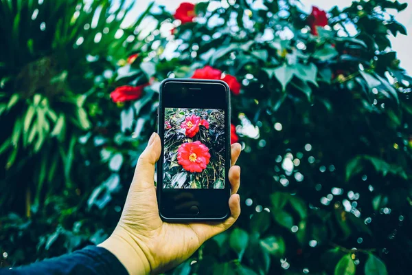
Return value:
M 225 111 L 165 108 L 163 188 L 225 188 Z

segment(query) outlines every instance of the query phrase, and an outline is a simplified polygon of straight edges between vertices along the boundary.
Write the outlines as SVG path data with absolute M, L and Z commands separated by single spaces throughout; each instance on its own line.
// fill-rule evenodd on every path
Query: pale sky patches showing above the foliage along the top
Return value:
M 136 5 L 134 10 L 131 12 L 130 15 L 138 16 L 146 10 L 148 4 L 151 0 L 138 0 L 139 5 Z M 157 0 L 156 3 L 158 5 L 164 5 L 168 10 L 173 11 L 180 5 L 181 2 L 184 1 L 191 1 L 192 3 L 199 2 L 198 0 Z M 399 0 L 401 3 L 406 2 L 407 0 Z M 352 0 L 301 0 L 301 3 L 304 4 L 306 7 L 306 11 L 310 12 L 312 5 L 317 5 L 319 8 L 323 10 L 330 10 L 335 5 L 338 5 L 339 8 L 345 8 L 352 3 Z M 410 56 L 410 49 L 412 47 L 412 4 L 408 6 L 408 8 L 399 14 L 396 15 L 396 19 L 402 23 L 408 30 L 409 36 L 403 36 L 398 34 L 397 37 L 391 36 L 391 42 L 393 50 L 398 52 L 398 58 L 400 59 L 400 65 L 407 69 L 409 74 L 412 74 L 412 58 Z

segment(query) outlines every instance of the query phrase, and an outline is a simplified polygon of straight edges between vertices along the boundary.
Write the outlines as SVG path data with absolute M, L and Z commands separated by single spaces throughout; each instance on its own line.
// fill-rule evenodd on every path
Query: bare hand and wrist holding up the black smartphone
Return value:
M 154 184 L 161 140 L 153 133 L 137 162 L 122 217 L 100 246 L 115 254 L 129 274 L 160 273 L 185 261 L 207 239 L 230 228 L 240 215 L 240 197 L 236 194 L 240 167 L 234 166 L 240 149 L 240 144 L 231 146 L 231 216 L 221 223 L 166 223 L 159 217 Z

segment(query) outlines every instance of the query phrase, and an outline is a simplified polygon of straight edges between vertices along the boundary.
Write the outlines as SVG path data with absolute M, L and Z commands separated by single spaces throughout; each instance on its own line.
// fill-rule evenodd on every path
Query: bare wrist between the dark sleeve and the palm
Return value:
M 139 244 L 127 232 L 116 228 L 113 234 L 98 245 L 105 248 L 124 265 L 128 274 L 150 274 L 150 263 Z

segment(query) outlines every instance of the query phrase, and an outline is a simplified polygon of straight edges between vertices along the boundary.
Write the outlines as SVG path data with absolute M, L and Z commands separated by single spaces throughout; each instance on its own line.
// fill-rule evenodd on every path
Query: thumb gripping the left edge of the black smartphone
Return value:
M 141 153 L 137 161 L 135 175 L 133 176 L 133 185 L 141 187 L 154 186 L 155 164 L 160 157 L 161 142 L 157 133 L 152 133 L 148 146 Z

